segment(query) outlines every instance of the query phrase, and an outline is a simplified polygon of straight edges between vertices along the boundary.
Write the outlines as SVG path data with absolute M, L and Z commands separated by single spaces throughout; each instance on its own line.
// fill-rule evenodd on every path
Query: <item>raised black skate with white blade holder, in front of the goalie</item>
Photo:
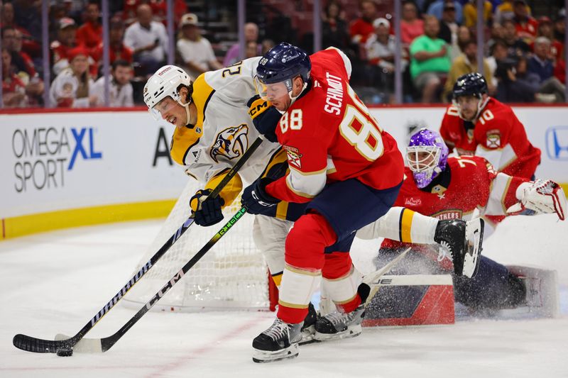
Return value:
M 479 269 L 483 239 L 483 219 L 476 218 L 469 222 L 461 219 L 439 221 L 434 235 L 436 243 L 442 246 L 438 260 L 442 260 L 448 252 L 456 274 L 474 277 Z

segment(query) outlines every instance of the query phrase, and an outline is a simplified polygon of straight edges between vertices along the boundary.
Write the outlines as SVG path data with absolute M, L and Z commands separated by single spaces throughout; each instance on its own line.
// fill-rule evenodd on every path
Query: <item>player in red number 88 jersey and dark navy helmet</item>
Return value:
M 282 113 L 275 129 L 264 134 L 283 145 L 290 172 L 275 181 L 258 179 L 244 190 L 242 203 L 251 213 L 279 201 L 308 204 L 286 238 L 278 318 L 253 340 L 255 362 L 298 354 L 302 320 L 322 276 L 340 312 L 317 321 L 315 338 L 361 333 L 368 291 L 357 292 L 359 274 L 348 251 L 355 231 L 391 208 L 403 159 L 395 140 L 349 87 L 350 74 L 351 63 L 335 48 L 310 59 L 280 43 L 258 63 L 257 91 Z

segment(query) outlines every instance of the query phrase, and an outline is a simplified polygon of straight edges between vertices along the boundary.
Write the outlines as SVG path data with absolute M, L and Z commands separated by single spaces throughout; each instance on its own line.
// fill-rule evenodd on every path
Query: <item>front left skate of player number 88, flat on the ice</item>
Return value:
M 289 324 L 276 319 L 272 326 L 253 340 L 253 361 L 274 362 L 298 355 L 302 340 L 302 324 Z

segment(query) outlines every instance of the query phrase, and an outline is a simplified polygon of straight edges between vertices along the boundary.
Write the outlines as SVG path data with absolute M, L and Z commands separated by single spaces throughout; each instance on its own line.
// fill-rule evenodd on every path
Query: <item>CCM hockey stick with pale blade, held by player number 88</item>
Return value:
M 140 310 L 138 310 L 138 312 L 136 314 L 134 314 L 134 316 L 132 318 L 130 318 L 129 321 L 127 321 L 124 326 L 122 326 L 122 328 L 120 328 L 119 330 L 116 331 L 116 333 L 114 333 L 113 335 L 110 335 L 107 338 L 84 338 L 82 340 L 80 340 L 79 343 L 77 343 L 75 345 L 76 349 L 78 352 L 90 352 L 90 353 L 94 353 L 94 352 L 107 352 L 107 350 L 109 350 L 110 348 L 112 348 L 112 345 L 114 345 L 118 340 L 120 340 L 120 338 L 122 336 L 124 336 L 124 334 L 134 325 L 136 324 L 136 322 L 138 322 L 142 316 L 144 316 L 145 313 L 147 313 L 148 311 L 150 311 L 150 309 L 156 304 L 158 303 L 158 301 L 160 299 L 162 299 L 162 297 L 168 292 L 170 291 L 170 289 L 173 287 L 173 285 L 177 284 L 180 279 L 182 279 L 182 277 L 193 267 L 193 265 L 195 265 L 199 260 L 201 260 L 201 258 L 207 253 L 207 251 L 209 251 L 214 245 L 215 243 L 217 243 L 219 241 L 220 238 L 222 238 L 222 236 L 231 228 L 234 226 L 234 224 L 239 221 L 239 219 L 244 216 L 244 214 L 246 213 L 246 208 L 243 206 L 241 207 L 241 209 L 239 211 L 237 211 L 234 216 L 229 219 L 229 221 L 225 224 L 225 226 L 223 226 L 223 228 L 221 228 L 215 235 L 213 235 L 213 237 L 211 239 L 209 239 L 209 241 L 207 242 L 207 244 L 204 245 L 203 248 L 201 248 L 196 254 L 195 256 L 193 256 L 191 258 L 190 261 L 188 261 L 183 267 L 182 269 L 177 272 L 176 274 L 174 274 L 174 276 L 170 279 L 170 281 L 168 281 L 163 287 L 162 289 L 160 289 L 160 291 L 158 291 L 156 294 L 154 294 L 152 296 L 152 298 L 146 302 L 146 304 L 144 306 L 142 306 L 142 308 L 140 308 Z M 60 335 L 58 335 L 60 336 Z M 50 341 L 50 343 L 65 343 L 67 340 L 61 340 L 61 341 Z M 72 345 L 70 345 L 69 348 L 72 348 Z M 74 348 L 75 349 L 75 348 Z

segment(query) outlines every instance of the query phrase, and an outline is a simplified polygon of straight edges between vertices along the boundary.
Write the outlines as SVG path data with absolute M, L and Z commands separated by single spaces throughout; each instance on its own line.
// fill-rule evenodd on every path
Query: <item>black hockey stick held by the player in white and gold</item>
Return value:
M 233 167 L 231 167 L 229 172 L 226 173 L 225 177 L 221 182 L 219 182 L 217 187 L 213 189 L 209 196 L 217 196 L 219 194 L 219 192 L 225 187 L 225 185 L 235 176 L 236 172 L 238 172 L 239 169 L 241 169 L 241 167 L 244 165 L 244 163 L 249 160 L 249 157 L 253 155 L 253 152 L 258 148 L 259 145 L 261 145 L 262 141 L 263 140 L 260 137 L 254 140 L 251 147 L 249 147 L 244 152 L 239 161 L 236 162 Z M 178 228 L 178 230 L 176 230 L 175 233 L 165 242 L 165 244 L 158 250 L 158 252 L 155 252 L 155 255 L 153 255 L 151 259 L 148 260 L 148 262 L 146 262 L 146 264 L 144 264 L 143 267 L 141 267 L 141 269 L 138 270 L 138 272 L 136 272 L 136 274 L 131 279 L 129 279 L 128 282 L 126 282 L 124 287 L 122 287 L 122 289 L 120 289 L 120 291 L 116 293 L 116 295 L 113 296 L 112 299 L 106 305 L 104 305 L 104 307 L 101 308 L 99 312 L 97 312 L 97 314 L 89 321 L 89 323 L 85 324 L 84 327 L 81 328 L 81 330 L 75 336 L 68 338 L 67 340 L 55 341 L 43 340 L 40 338 L 33 338 L 31 336 L 18 334 L 13 337 L 13 345 L 21 350 L 36 353 L 56 353 L 60 349 L 72 348 L 73 345 L 77 344 L 77 342 L 81 340 L 84 335 L 86 335 L 87 332 L 89 332 L 89 330 L 91 330 L 94 325 L 97 324 L 97 322 L 107 312 L 109 312 L 110 309 L 113 308 L 118 301 L 122 299 L 124 294 L 126 294 L 134 286 L 134 284 L 136 284 L 136 282 L 138 282 L 143 277 L 143 275 L 146 274 L 146 272 L 148 272 L 148 270 L 150 270 L 151 267 L 153 267 L 153 265 L 158 262 L 158 260 L 160 260 L 160 257 L 162 257 L 165 252 L 168 252 L 172 245 L 185 233 L 187 228 L 189 228 L 192 224 L 193 216 L 190 216 L 182 224 L 182 226 L 180 226 L 180 228 Z

